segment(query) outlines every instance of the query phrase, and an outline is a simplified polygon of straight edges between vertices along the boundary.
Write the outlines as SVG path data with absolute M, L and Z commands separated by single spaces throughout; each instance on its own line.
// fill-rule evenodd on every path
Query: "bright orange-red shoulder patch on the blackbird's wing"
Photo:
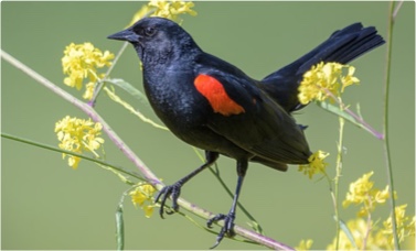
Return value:
M 245 112 L 242 106 L 230 98 L 224 86 L 214 77 L 203 74 L 198 75 L 194 85 L 196 90 L 209 100 L 214 112 L 218 112 L 223 116 Z

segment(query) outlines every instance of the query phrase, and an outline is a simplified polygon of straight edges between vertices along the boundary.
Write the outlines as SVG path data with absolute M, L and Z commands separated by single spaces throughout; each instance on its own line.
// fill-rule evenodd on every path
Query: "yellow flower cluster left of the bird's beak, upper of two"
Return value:
M 108 51 L 103 53 L 92 43 L 71 43 L 65 47 L 62 57 L 64 74 L 68 75 L 65 77 L 64 84 L 79 90 L 83 87 L 84 79 L 88 79 L 83 98 L 92 99 L 96 83 L 105 76 L 105 74 L 98 74 L 97 68 L 110 66 L 113 58 L 113 53 Z

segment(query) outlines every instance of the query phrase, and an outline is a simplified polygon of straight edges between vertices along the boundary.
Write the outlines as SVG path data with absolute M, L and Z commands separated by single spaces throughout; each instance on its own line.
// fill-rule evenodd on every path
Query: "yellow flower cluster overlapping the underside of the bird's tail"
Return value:
M 343 69 L 348 69 L 344 76 Z M 338 63 L 319 63 L 303 74 L 303 79 L 299 85 L 298 99 L 302 105 L 312 100 L 323 101 L 331 95 L 340 97 L 345 87 L 359 84 L 354 77 L 355 68 Z M 341 90 L 340 90 L 341 89 Z

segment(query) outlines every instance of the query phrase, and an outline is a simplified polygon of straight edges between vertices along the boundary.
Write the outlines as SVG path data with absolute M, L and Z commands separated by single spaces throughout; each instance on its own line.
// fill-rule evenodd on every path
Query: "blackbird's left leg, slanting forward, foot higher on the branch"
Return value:
M 173 185 L 166 186 L 159 192 L 159 194 L 154 198 L 154 201 L 158 203 L 160 199 L 160 209 L 159 209 L 160 217 L 163 218 L 164 204 L 170 195 L 172 196 L 172 208 L 174 211 L 178 211 L 179 209 L 178 198 L 179 198 L 179 195 L 181 194 L 181 187 L 183 186 L 183 184 L 185 184 L 189 179 L 191 179 L 193 176 L 199 174 L 201 171 L 212 165 L 218 159 L 218 155 L 220 154 L 216 152 L 205 151 L 204 164 L 202 164 L 200 167 L 198 167 L 196 170 L 194 170 L 192 173 L 188 174 L 183 178 L 179 179 Z M 167 211 L 167 214 L 171 215 L 173 214 L 173 211 Z

